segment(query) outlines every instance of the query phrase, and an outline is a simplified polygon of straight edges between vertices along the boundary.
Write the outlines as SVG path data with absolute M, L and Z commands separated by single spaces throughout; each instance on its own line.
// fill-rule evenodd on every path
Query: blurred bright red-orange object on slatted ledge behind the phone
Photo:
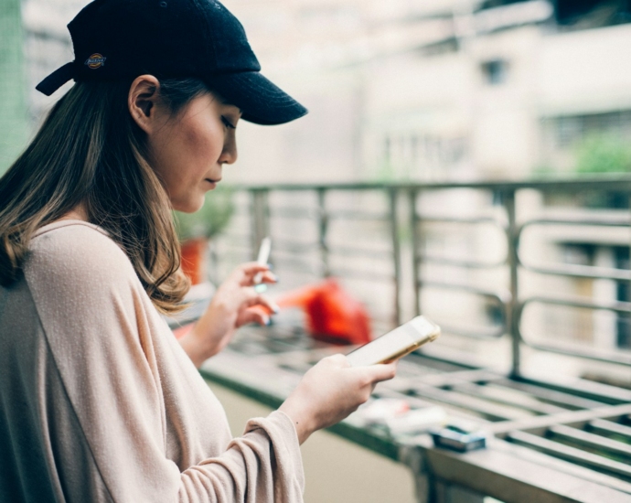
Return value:
M 334 278 L 276 299 L 280 307 L 301 307 L 307 329 L 317 340 L 337 344 L 365 344 L 371 340 L 369 315 Z

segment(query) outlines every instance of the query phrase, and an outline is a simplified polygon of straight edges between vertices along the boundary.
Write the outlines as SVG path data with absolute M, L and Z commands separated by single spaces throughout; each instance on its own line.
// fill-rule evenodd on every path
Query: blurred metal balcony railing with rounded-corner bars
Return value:
M 584 348 L 572 341 L 555 342 L 552 340 L 553 335 L 529 337 L 523 329 L 525 312 L 535 305 L 608 312 L 626 321 L 631 316 L 628 298 L 532 293 L 528 288 L 522 288 L 524 274 L 566 281 L 605 280 L 615 285 L 631 283 L 631 272 L 615 264 L 537 263 L 531 260 L 529 249 L 523 244 L 524 236 L 536 229 L 550 229 L 552 233 L 555 229 L 572 229 L 574 234 L 578 230 L 579 241 L 583 240 L 585 246 L 599 243 L 609 246 L 610 243 L 607 243 L 615 234 L 615 246 L 628 249 L 631 244 L 631 234 L 628 233 L 631 229 L 631 213 L 628 204 L 623 209 L 585 209 L 579 202 L 572 202 L 572 198 L 581 198 L 585 193 L 631 194 L 631 177 L 515 183 L 271 185 L 241 187 L 240 190 L 241 223 L 233 223 L 222 238 L 220 246 L 224 252 L 219 252 L 219 256 L 225 256 L 226 251 L 236 250 L 233 238 L 239 235 L 241 252 L 253 257 L 262 237 L 272 234 L 273 262 L 277 268 L 310 272 L 314 277 L 336 275 L 342 279 L 390 284 L 390 298 L 385 301 L 385 294 L 381 294 L 380 298 L 381 304 L 391 305 L 390 319 L 386 321 L 390 326 L 400 324 L 406 316 L 424 312 L 422 299 L 427 289 L 473 295 L 484 300 L 488 309 L 496 314 L 496 323 L 492 326 L 465 327 L 449 326 L 446 323 L 444 331 L 483 339 L 509 337 L 512 355 L 510 366 L 514 376 L 520 374 L 521 353 L 526 347 L 631 366 L 631 352 L 626 348 L 597 348 L 595 345 Z M 482 195 L 485 204 L 470 208 L 459 201 L 458 194 L 461 193 L 478 197 Z M 533 194 L 539 199 L 563 195 L 571 198 L 571 203 L 569 209 L 561 212 L 551 211 L 556 207 L 543 202 L 537 210 L 533 210 L 522 200 L 524 195 Z M 244 195 L 247 198 L 243 198 Z M 450 195 L 449 198 L 456 201 L 451 205 L 454 210 L 441 211 L 440 205 L 435 204 L 436 198 L 442 198 L 443 195 Z M 371 207 L 375 201 L 379 204 L 375 203 L 374 208 L 367 209 L 366 198 L 370 198 Z M 433 207 L 431 211 L 423 207 L 423 202 L 427 202 L 425 199 L 428 198 L 429 206 Z M 434 209 L 436 207 L 438 209 Z M 274 235 L 290 220 L 294 221 L 294 231 L 289 236 Z M 335 227 L 340 222 L 347 224 L 347 235 L 339 230 L 336 234 Z M 247 230 L 244 229 L 246 225 L 249 226 Z M 424 251 L 428 236 L 445 232 L 444 229 L 450 225 L 466 231 L 483 226 L 494 229 L 496 236 L 489 246 L 496 252 L 502 252 L 503 256 L 490 259 L 462 255 L 454 257 Z M 442 227 L 432 232 L 428 230 L 432 226 Z M 378 228 L 379 232 L 376 231 Z M 611 235 L 605 232 L 600 237 L 594 237 L 593 230 L 601 233 L 602 230 L 609 230 Z M 622 241 L 621 233 L 626 236 Z M 243 241 L 246 235 L 249 235 L 249 242 Z M 362 242 L 363 235 L 369 236 L 369 240 Z M 576 241 L 575 237 L 572 239 Z M 604 244 L 601 242 L 603 239 Z M 559 236 L 540 241 L 546 245 L 555 240 L 562 241 Z M 532 249 L 539 250 L 537 246 L 531 246 L 530 251 Z M 371 265 L 378 262 L 379 267 Z M 364 264 L 363 269 L 358 267 L 361 263 Z M 504 279 L 494 282 L 444 280 L 433 277 L 436 274 L 427 273 L 428 268 L 432 267 L 446 268 L 452 272 L 494 272 Z M 454 275 L 458 274 L 451 274 Z M 444 298 L 448 298 L 448 294 L 444 295 L 447 295 Z M 410 299 L 413 299 L 412 302 Z

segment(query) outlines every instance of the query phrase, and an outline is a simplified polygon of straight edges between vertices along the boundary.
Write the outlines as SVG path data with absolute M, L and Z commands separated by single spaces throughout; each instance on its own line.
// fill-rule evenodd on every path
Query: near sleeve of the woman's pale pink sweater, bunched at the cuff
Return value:
M 131 263 L 113 241 L 85 226 L 34 241 L 25 274 L 67 397 L 57 406 L 68 407 L 80 425 L 63 434 L 80 438 L 74 440 L 80 457 L 92 460 L 106 493 L 81 500 L 302 501 L 300 449 L 283 412 L 251 420 L 223 452 L 201 455 L 192 466 L 169 459 L 166 423 L 178 412 L 166 411 L 164 398 L 175 391 L 165 388 L 155 326 Z

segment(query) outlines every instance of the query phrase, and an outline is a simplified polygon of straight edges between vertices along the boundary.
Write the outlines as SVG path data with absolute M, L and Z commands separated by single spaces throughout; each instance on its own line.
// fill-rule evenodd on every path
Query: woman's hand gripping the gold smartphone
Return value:
M 280 411 L 294 422 L 298 441 L 311 433 L 342 421 L 368 401 L 375 385 L 390 380 L 396 363 L 351 367 L 344 355 L 321 359 L 309 369 Z

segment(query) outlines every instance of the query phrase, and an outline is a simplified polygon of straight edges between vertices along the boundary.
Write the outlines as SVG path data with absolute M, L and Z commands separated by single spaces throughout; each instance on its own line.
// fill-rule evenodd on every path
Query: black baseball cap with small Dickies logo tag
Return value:
M 307 112 L 262 76 L 241 23 L 217 0 L 95 0 L 68 29 L 75 59 L 37 84 L 47 96 L 71 79 L 148 73 L 204 80 L 251 123 L 288 123 Z

